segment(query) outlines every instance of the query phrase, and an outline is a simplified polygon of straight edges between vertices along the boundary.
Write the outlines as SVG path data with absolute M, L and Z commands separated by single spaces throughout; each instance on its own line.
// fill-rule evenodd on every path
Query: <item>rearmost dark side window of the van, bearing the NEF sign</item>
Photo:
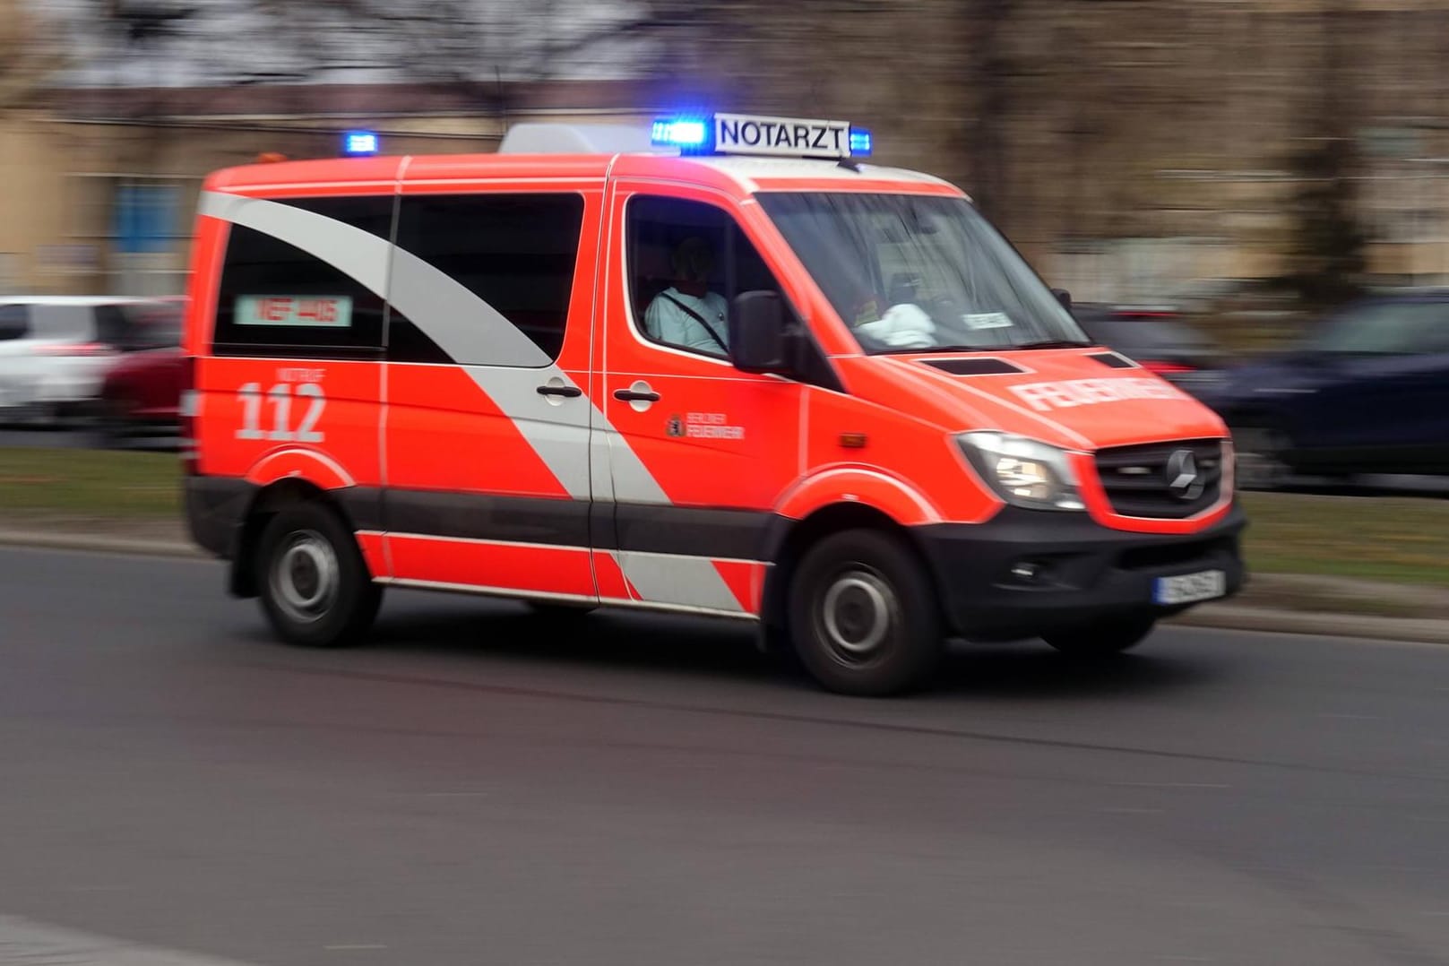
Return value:
M 383 240 L 391 230 L 391 197 L 285 204 Z M 217 293 L 216 355 L 378 358 L 385 323 L 381 295 L 323 261 L 326 255 L 233 224 Z

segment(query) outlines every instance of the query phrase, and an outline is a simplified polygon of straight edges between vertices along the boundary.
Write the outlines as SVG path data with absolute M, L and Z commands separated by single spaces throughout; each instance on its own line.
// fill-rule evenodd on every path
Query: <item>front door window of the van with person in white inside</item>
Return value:
M 742 291 L 780 293 L 755 246 L 723 209 L 639 196 L 626 213 L 629 298 L 645 339 L 729 358 L 729 317 Z

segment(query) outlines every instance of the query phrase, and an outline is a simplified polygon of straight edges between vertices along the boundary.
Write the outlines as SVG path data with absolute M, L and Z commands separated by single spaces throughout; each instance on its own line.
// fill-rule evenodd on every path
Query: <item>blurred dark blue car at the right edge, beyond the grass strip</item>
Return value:
M 1375 295 L 1206 397 L 1233 427 L 1237 479 L 1449 474 L 1449 290 Z

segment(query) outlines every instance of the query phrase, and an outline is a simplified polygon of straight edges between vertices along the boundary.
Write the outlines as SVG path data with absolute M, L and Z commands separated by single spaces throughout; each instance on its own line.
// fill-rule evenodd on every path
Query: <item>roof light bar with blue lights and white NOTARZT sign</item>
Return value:
M 651 142 L 682 155 L 767 155 L 775 158 L 871 156 L 871 132 L 843 120 L 755 114 L 677 114 L 653 122 Z

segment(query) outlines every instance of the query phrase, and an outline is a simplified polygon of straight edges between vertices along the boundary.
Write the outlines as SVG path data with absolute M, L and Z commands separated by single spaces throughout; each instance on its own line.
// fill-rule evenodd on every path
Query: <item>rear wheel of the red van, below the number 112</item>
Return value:
M 301 647 L 358 643 L 372 626 L 383 588 L 356 537 L 322 503 L 285 507 L 262 529 L 256 589 L 277 636 Z

